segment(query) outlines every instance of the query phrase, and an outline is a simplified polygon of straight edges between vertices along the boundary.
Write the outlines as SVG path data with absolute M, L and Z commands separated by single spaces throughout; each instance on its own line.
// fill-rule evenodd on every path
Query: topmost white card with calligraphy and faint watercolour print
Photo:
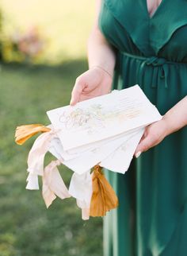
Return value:
M 65 151 L 100 142 L 162 116 L 138 85 L 47 112 Z

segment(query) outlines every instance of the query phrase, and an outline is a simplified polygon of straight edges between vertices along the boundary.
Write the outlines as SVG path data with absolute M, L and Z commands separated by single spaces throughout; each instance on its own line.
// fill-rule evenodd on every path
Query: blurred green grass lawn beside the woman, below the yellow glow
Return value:
M 102 219 L 82 221 L 74 199 L 56 199 L 47 210 L 40 191 L 25 190 L 26 160 L 35 138 L 14 143 L 17 125 L 49 123 L 46 111 L 67 105 L 86 61 L 62 66 L 1 65 L 0 256 L 101 256 Z M 51 158 L 47 157 L 47 161 Z M 69 184 L 71 171 L 60 173 Z

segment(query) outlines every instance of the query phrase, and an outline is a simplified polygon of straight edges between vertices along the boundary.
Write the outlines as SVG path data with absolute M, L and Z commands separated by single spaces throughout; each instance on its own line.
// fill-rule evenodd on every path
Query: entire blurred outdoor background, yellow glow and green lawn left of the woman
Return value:
M 100 256 L 102 219 L 82 221 L 74 199 L 47 210 L 40 191 L 25 190 L 27 155 L 16 126 L 48 125 L 87 69 L 91 0 L 0 0 L 0 256 Z M 46 157 L 46 163 L 52 157 Z M 72 172 L 61 167 L 69 184 Z M 41 187 L 41 186 L 40 186 Z

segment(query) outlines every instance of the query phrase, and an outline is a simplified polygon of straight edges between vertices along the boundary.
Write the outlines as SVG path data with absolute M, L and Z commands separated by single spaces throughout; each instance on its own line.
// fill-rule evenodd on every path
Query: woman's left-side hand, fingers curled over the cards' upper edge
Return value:
M 71 106 L 111 91 L 113 78 L 100 67 L 90 68 L 81 76 L 78 76 L 71 92 Z

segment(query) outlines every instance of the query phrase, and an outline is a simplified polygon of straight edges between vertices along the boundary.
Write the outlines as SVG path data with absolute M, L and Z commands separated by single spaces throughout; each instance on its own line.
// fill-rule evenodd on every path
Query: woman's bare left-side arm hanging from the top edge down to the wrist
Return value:
M 115 52 L 98 27 L 98 16 L 101 10 L 101 0 L 97 0 L 95 23 L 88 40 L 89 68 L 101 67 L 111 76 L 116 62 Z

